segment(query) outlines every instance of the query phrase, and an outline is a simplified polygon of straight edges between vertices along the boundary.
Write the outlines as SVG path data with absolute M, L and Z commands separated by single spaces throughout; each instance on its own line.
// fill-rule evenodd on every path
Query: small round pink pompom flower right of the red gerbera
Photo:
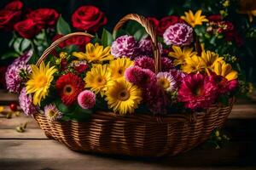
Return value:
M 83 109 L 90 109 L 96 105 L 96 95 L 90 90 L 84 90 L 78 96 L 78 102 Z

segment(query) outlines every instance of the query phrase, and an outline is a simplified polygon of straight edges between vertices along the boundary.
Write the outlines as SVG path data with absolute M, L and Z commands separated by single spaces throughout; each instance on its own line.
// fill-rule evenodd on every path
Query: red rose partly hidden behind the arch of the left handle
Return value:
M 57 40 L 60 37 L 63 37 L 63 36 L 60 34 L 55 35 L 55 37 L 53 38 L 53 41 Z M 65 48 L 70 45 L 76 45 L 79 47 L 80 50 L 84 50 L 85 44 L 88 42 L 90 42 L 90 37 L 76 36 L 76 37 L 67 39 L 65 42 L 61 42 L 59 44 L 59 47 Z

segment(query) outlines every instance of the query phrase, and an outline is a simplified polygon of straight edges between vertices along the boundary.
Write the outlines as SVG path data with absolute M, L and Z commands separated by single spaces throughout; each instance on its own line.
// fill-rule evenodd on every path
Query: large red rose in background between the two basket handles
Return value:
M 73 27 L 81 31 L 96 32 L 107 22 L 105 14 L 95 6 L 82 6 L 72 15 Z

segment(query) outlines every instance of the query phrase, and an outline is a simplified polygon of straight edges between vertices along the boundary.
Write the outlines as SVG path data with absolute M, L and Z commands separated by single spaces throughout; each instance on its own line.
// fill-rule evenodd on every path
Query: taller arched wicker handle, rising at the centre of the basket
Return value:
M 119 22 L 114 26 L 113 34 L 115 34 L 119 30 L 119 28 L 121 26 L 124 26 L 125 23 L 129 20 L 137 21 L 147 31 L 147 33 L 153 43 L 152 47 L 153 47 L 153 52 L 154 52 L 155 73 L 160 72 L 161 71 L 161 62 L 160 62 L 160 50 L 158 47 L 157 35 L 156 35 L 156 31 L 155 31 L 153 24 L 148 19 L 146 19 L 142 15 L 138 15 L 138 14 L 127 14 L 127 15 L 125 15 L 125 17 L 123 17 L 121 20 L 119 20 Z

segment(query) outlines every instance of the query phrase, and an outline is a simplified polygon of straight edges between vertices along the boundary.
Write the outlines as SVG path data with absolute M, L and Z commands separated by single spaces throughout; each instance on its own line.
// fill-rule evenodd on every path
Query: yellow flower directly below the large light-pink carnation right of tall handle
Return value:
M 185 58 L 189 58 L 196 54 L 193 52 L 193 48 L 184 47 L 183 49 L 178 46 L 172 46 L 173 52 L 170 52 L 168 55 L 175 58 L 174 65 L 182 65 L 185 61 Z

